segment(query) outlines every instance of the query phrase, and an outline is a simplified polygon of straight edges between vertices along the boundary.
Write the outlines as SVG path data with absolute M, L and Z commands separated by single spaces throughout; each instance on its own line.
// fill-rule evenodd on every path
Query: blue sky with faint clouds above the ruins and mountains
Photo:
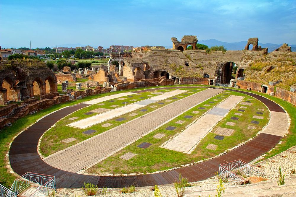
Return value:
M 164 45 L 171 37 L 296 44 L 296 1 L 0 0 L 0 45 Z

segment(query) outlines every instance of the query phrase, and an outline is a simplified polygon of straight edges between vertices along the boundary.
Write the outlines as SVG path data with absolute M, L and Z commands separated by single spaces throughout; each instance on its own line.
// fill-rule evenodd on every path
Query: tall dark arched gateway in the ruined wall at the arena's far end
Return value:
M 229 84 L 232 79 L 233 62 L 219 62 L 217 70 L 217 83 Z

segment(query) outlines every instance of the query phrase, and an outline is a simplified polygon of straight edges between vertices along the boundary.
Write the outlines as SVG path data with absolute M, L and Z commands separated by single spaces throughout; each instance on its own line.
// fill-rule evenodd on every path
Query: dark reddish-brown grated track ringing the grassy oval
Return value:
M 176 87 L 169 87 L 169 89 L 175 88 Z M 185 86 L 178 88 L 190 87 Z M 192 88 L 197 87 L 192 86 Z M 156 88 L 155 90 L 159 89 L 168 88 Z M 255 97 L 256 99 L 265 103 L 271 111 L 285 112 L 275 102 L 268 100 L 262 96 L 239 90 L 227 90 L 241 92 Z M 136 92 L 144 91 L 151 91 L 151 89 L 140 90 Z M 73 107 L 64 108 L 62 110 L 54 112 L 42 118 L 34 125 L 30 126 L 23 133 L 21 133 L 19 136 L 17 136 L 15 140 L 12 142 L 9 150 L 9 161 L 12 169 L 19 175 L 25 174 L 26 172 L 53 175 L 56 177 L 57 188 L 81 188 L 83 186 L 83 183 L 93 183 L 95 185 L 98 185 L 99 188 L 118 188 L 128 187 L 130 185 L 135 185 L 139 187 L 163 185 L 174 183 L 176 179 L 178 179 L 179 173 L 181 173 L 182 176 L 188 178 L 190 182 L 193 182 L 213 177 L 215 175 L 215 172 L 219 170 L 219 164 L 221 163 L 230 162 L 236 159 L 242 159 L 245 162 L 251 162 L 255 158 L 261 156 L 262 154 L 272 149 L 281 139 L 280 136 L 261 133 L 248 143 L 214 159 L 210 159 L 205 162 L 198 163 L 196 165 L 182 167 L 177 170 L 149 175 L 134 175 L 120 177 L 81 175 L 59 170 L 46 164 L 40 158 L 37 152 L 37 144 L 39 138 L 48 128 L 50 128 L 59 119 L 85 106 L 87 105 L 77 104 Z

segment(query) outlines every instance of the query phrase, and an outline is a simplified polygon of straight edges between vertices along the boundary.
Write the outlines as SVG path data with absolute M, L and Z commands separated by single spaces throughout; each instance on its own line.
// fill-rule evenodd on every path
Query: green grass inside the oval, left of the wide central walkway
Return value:
M 168 90 L 172 91 L 173 89 L 168 89 Z M 187 88 L 186 90 L 189 90 L 189 88 Z M 160 91 L 163 91 L 163 90 L 159 90 L 157 92 L 160 92 Z M 168 91 L 166 91 L 166 92 L 168 92 Z M 133 102 L 137 102 L 137 101 L 140 101 L 140 100 L 145 100 L 145 99 L 149 98 L 148 95 L 150 95 L 150 94 L 151 94 L 151 92 L 143 92 L 143 93 L 141 93 L 141 95 L 134 94 L 134 95 L 132 95 L 133 97 L 125 96 L 124 98 L 126 98 L 126 100 L 112 99 L 112 100 L 115 100 L 115 101 L 114 102 L 105 101 L 105 102 L 103 102 L 103 103 L 105 103 L 105 105 L 102 105 L 102 106 L 94 104 L 94 105 L 83 108 L 81 110 L 78 110 L 78 111 L 68 115 L 66 118 L 63 118 L 58 123 L 56 123 L 55 127 L 51 128 L 49 131 L 44 133 L 44 136 L 42 137 L 41 143 L 40 143 L 40 152 L 41 152 L 41 154 L 44 157 L 47 157 L 50 154 L 53 154 L 54 152 L 65 149 L 65 148 L 67 148 L 69 146 L 72 146 L 74 144 L 77 144 L 80 141 L 89 139 L 92 136 L 98 135 L 99 133 L 102 133 L 102 132 L 107 131 L 107 130 L 109 130 L 111 128 L 119 126 L 119 125 L 121 125 L 123 123 L 131 121 L 131 120 L 133 120 L 133 119 L 135 119 L 135 118 L 137 118 L 139 116 L 147 114 L 147 113 L 149 113 L 149 112 L 151 112 L 153 110 L 156 110 L 156 109 L 158 109 L 160 107 L 163 107 L 163 106 L 165 106 L 165 105 L 167 105 L 167 104 L 169 104 L 171 102 L 174 102 L 174 101 L 179 100 L 181 98 L 184 98 L 186 96 L 192 95 L 193 93 L 188 94 L 188 95 L 184 95 L 184 97 L 177 97 L 176 96 L 178 99 L 172 99 L 172 101 L 164 102 L 165 104 L 162 104 L 162 105 L 158 104 L 158 102 L 152 103 L 150 105 L 146 105 L 143 108 L 139 108 L 138 110 L 131 112 L 131 113 L 137 113 L 138 115 L 136 115 L 136 116 L 129 116 L 128 114 L 130 114 L 130 113 L 121 115 L 120 118 L 126 118 L 126 120 L 124 120 L 124 121 L 120 121 L 120 122 L 115 121 L 115 119 L 119 118 L 119 116 L 118 116 L 118 117 L 115 117 L 115 118 L 113 118 L 111 120 L 104 121 L 102 123 L 90 126 L 88 128 L 85 128 L 85 129 L 77 129 L 77 128 L 66 126 L 69 123 L 72 123 L 72 122 L 75 122 L 75 121 L 78 121 L 78 120 L 81 120 L 81 119 L 84 119 L 84 118 L 89 118 L 91 116 L 94 116 L 94 115 L 98 114 L 98 113 L 93 113 L 91 115 L 85 115 L 84 114 L 86 112 L 89 112 L 90 110 L 94 110 L 94 109 L 97 109 L 97 108 L 114 109 L 113 107 L 111 107 L 111 105 L 118 105 L 118 107 L 121 107 L 121 106 L 125 105 L 125 104 L 123 104 L 123 102 L 129 102 L 128 104 L 131 104 Z M 153 96 L 157 96 L 157 95 L 153 95 Z M 140 97 L 144 97 L 144 98 L 140 99 Z M 136 99 L 137 101 L 130 101 L 130 100 L 133 100 L 133 99 Z M 149 106 L 152 106 L 152 105 L 156 105 L 157 107 L 156 108 L 149 108 Z M 116 107 L 116 108 L 118 108 L 118 107 Z M 148 111 L 141 112 L 140 111 L 141 109 L 147 109 Z M 68 118 L 72 118 L 72 117 L 78 117 L 78 119 L 75 119 L 73 121 L 68 120 Z M 109 126 L 107 128 L 102 127 L 101 125 L 103 125 L 105 123 L 111 123 L 112 126 Z M 96 130 L 96 132 L 94 132 L 94 133 L 92 133 L 90 135 L 86 135 L 86 134 L 82 133 L 82 132 L 84 132 L 86 130 L 89 130 L 89 129 Z M 63 131 L 63 132 L 60 132 L 60 131 Z M 77 140 L 73 141 L 73 142 L 70 142 L 70 143 L 67 143 L 67 144 L 65 144 L 63 142 L 60 142 L 61 140 L 67 139 L 69 137 L 76 138 Z

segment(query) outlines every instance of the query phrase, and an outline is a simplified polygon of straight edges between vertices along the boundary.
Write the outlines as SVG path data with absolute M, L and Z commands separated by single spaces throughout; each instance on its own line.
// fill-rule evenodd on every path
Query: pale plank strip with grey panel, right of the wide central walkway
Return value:
M 205 115 L 202 115 L 200 118 L 198 118 L 194 123 L 192 123 L 173 139 L 163 143 L 161 147 L 191 154 L 200 140 L 204 138 L 207 133 L 210 132 L 213 127 L 222 120 L 224 115 L 242 100 L 242 98 L 244 97 L 231 95 L 223 102 L 219 103 L 212 110 L 207 112 Z M 215 113 L 211 113 L 212 111 Z M 219 111 L 222 113 L 217 113 Z

